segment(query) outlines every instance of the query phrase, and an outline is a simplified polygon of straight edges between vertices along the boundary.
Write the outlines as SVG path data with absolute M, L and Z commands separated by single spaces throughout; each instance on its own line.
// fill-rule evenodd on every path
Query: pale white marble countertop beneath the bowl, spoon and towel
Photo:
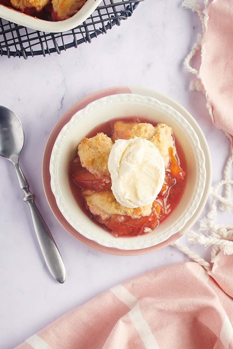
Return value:
M 59 284 L 43 260 L 14 166 L 1 158 L 0 348 L 14 348 L 118 283 L 154 268 L 190 260 L 173 246 L 138 256 L 118 256 L 83 245 L 54 217 L 41 175 L 52 128 L 75 102 L 104 88 L 139 86 L 169 96 L 194 117 L 210 148 L 212 185 L 223 179 L 230 142 L 213 125 L 204 94 L 189 90 L 193 76 L 185 70 L 183 61 L 202 27 L 197 14 L 182 9 L 181 3 L 145 0 L 120 26 L 60 55 L 27 60 L 0 57 L 0 105 L 11 109 L 22 122 L 25 142 L 20 165 L 66 267 L 66 281 Z M 198 66 L 198 58 L 193 64 Z M 199 218 L 209 211 L 210 200 Z M 229 215 L 222 217 L 230 223 Z M 191 230 L 198 232 L 199 218 Z M 210 261 L 210 248 L 190 245 L 185 235 L 179 242 Z

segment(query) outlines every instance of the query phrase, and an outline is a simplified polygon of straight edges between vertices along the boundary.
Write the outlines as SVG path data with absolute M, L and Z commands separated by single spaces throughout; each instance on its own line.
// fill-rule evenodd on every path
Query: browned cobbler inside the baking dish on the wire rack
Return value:
M 87 0 L 0 0 L 2 5 L 48 21 L 63 21 L 77 13 Z

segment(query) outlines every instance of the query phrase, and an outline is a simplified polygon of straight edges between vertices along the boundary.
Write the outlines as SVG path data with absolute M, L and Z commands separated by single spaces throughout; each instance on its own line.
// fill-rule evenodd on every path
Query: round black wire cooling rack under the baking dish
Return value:
M 45 33 L 0 18 L 0 54 L 10 57 L 44 57 L 61 53 L 104 34 L 121 20 L 130 17 L 139 2 L 144 0 L 103 0 L 90 17 L 73 30 L 62 33 Z

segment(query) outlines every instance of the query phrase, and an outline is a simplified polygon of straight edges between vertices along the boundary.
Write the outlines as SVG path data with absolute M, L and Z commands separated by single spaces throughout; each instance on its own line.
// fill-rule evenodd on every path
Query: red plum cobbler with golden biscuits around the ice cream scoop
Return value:
M 77 156 L 70 162 L 68 175 L 77 204 L 114 237 L 151 232 L 176 208 L 184 191 L 187 165 L 172 128 L 148 121 L 123 118 L 99 125 L 81 139 Z M 126 207 L 116 200 L 111 190 L 108 159 L 117 140 L 136 138 L 150 141 L 158 149 L 165 177 L 153 202 L 143 207 Z

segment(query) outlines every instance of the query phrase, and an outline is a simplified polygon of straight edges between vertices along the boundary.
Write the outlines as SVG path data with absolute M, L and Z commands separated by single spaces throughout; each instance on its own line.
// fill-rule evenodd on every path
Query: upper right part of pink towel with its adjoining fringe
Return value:
M 233 138 L 233 1 L 214 0 L 205 9 L 195 0 L 184 0 L 182 7 L 197 12 L 203 28 L 197 43 L 185 60 L 188 71 L 197 76 L 191 89 L 205 93 L 207 108 L 214 124 Z M 201 49 L 199 71 L 189 65 L 190 59 Z

